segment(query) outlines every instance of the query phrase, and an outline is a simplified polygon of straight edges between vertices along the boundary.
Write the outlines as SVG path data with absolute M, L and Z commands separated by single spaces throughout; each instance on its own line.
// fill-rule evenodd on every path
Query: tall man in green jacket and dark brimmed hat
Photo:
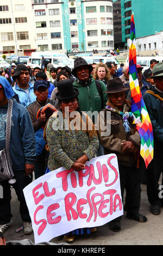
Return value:
M 77 78 L 73 87 L 79 90 L 79 107 L 81 111 L 100 112 L 106 105 L 107 94 L 103 94 L 106 86 L 102 81 L 95 80 L 91 76 L 92 65 L 87 64 L 86 60 L 78 57 L 74 60 L 74 69 L 72 75 Z M 93 123 L 96 123 L 97 117 L 93 117 Z M 104 154 L 101 143 L 97 151 L 97 156 Z

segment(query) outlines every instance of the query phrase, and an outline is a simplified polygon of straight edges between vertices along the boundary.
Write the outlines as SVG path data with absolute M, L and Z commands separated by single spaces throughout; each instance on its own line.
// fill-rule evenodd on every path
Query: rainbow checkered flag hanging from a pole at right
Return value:
M 130 47 L 129 47 L 129 83 L 131 90 L 131 111 L 134 115 L 136 129 L 141 138 L 140 155 L 143 157 L 146 168 L 153 159 L 153 128 L 145 102 L 140 92 L 136 70 L 134 15 L 131 15 Z

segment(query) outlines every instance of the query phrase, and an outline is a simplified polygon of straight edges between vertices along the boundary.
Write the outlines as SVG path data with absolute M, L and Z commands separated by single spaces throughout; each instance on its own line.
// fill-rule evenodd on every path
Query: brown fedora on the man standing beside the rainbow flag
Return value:
M 115 77 L 108 80 L 107 91 L 104 93 L 121 93 L 129 90 L 129 88 L 124 88 L 121 78 Z

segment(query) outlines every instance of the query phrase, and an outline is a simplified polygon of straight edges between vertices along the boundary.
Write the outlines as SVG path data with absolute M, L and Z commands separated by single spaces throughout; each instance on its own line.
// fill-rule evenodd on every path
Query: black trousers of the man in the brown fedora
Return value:
M 141 200 L 141 170 L 135 166 L 127 167 L 119 165 L 120 184 L 122 201 L 124 189 L 126 190 L 126 203 L 124 209 L 128 215 L 136 215 L 139 213 Z M 121 216 L 112 220 L 112 222 L 120 221 Z

